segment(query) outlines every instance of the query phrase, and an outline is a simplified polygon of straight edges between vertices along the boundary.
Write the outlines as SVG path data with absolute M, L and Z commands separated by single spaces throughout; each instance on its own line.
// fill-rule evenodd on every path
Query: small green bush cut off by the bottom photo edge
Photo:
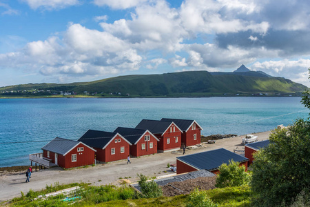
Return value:
M 218 205 L 209 199 L 206 190 L 199 191 L 198 188 L 189 194 L 187 207 L 216 207 Z

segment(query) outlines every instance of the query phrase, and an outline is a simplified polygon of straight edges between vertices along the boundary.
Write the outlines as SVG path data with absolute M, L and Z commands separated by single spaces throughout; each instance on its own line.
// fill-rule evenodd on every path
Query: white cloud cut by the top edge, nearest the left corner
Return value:
M 23 0 L 30 8 L 37 10 L 37 8 L 44 8 L 46 10 L 61 9 L 68 6 L 79 4 L 79 0 Z

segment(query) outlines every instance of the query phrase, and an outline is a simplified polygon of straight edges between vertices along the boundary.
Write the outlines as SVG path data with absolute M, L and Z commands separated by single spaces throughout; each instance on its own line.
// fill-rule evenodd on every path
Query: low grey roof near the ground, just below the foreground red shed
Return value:
M 214 176 L 216 176 L 216 175 L 212 172 L 209 172 L 208 170 L 197 170 L 197 171 L 193 171 L 193 172 L 188 172 L 188 173 L 183 174 L 183 175 L 175 175 L 172 177 L 154 179 L 154 181 L 156 182 L 156 184 L 158 184 L 158 186 L 165 186 L 169 183 L 185 181 L 187 179 L 195 179 L 197 177 L 214 177 Z M 141 191 L 141 188 L 138 184 L 132 184 L 132 186 Z

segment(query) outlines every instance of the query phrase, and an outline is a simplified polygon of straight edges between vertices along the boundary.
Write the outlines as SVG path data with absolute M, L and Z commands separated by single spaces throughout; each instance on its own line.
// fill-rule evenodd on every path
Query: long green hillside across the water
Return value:
M 72 95 L 130 97 L 207 97 L 256 93 L 300 95 L 307 87 L 259 72 L 172 72 L 162 75 L 127 75 L 83 83 L 39 83 L 0 88 L 0 95 Z

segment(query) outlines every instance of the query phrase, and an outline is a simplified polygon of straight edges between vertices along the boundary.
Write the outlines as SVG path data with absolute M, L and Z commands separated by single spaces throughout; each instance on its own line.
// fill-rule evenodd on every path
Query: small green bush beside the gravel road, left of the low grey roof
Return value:
M 142 174 L 138 174 L 140 180 L 138 181 L 139 186 L 141 187 L 141 193 L 147 198 L 156 198 L 163 195 L 163 190 L 159 187 L 155 181 L 148 181 L 147 177 Z

